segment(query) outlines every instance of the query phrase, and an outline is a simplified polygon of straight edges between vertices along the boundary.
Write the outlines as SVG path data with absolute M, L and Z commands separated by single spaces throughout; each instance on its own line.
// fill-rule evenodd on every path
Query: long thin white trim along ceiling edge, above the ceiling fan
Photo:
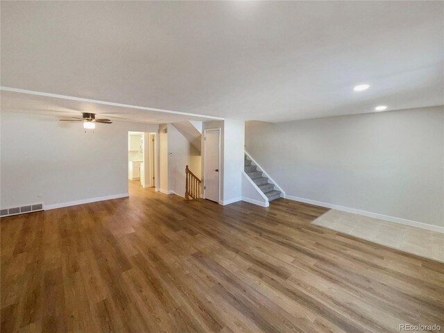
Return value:
M 19 92 L 21 94 L 53 97 L 55 99 L 68 99 L 70 101 L 80 101 L 80 102 L 86 102 L 86 103 L 95 103 L 95 104 L 102 104 L 102 105 L 119 106 L 121 108 L 131 108 L 131 109 L 146 110 L 146 111 L 155 111 L 155 112 L 165 112 L 165 113 L 171 113 L 171 114 L 180 114 L 182 116 L 191 116 L 191 117 L 200 117 L 200 118 L 206 118 L 206 119 L 223 120 L 223 118 L 220 118 L 220 117 L 205 116 L 203 114 L 196 114 L 196 113 L 189 113 L 189 112 L 179 112 L 179 111 L 173 111 L 173 110 L 163 110 L 163 109 L 156 109 L 156 108 L 148 108 L 146 106 L 123 104 L 123 103 L 115 103 L 115 102 L 107 102 L 107 101 L 99 101 L 97 99 L 84 99 L 82 97 L 74 97 L 74 96 L 67 96 L 67 95 L 51 94 L 49 92 L 35 92 L 33 90 L 11 88 L 11 87 L 1 87 L 1 86 L 0 86 L 0 90 L 3 90 L 5 92 Z

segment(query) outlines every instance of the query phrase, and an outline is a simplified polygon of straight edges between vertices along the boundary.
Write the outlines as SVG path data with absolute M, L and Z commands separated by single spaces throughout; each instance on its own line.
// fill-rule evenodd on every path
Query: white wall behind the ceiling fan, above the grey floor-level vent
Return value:
M 1 208 L 62 205 L 128 194 L 128 130 L 157 125 L 82 123 L 58 117 L 1 112 Z

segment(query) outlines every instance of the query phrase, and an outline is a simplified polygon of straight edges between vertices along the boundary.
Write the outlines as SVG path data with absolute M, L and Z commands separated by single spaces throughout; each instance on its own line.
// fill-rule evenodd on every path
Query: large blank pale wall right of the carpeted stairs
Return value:
M 287 196 L 444 226 L 444 108 L 246 124 Z

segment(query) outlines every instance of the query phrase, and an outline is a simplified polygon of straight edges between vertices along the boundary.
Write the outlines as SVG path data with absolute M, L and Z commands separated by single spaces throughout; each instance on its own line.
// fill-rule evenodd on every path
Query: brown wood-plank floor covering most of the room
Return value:
M 1 332 L 444 327 L 444 264 L 268 209 L 155 193 L 1 220 Z

